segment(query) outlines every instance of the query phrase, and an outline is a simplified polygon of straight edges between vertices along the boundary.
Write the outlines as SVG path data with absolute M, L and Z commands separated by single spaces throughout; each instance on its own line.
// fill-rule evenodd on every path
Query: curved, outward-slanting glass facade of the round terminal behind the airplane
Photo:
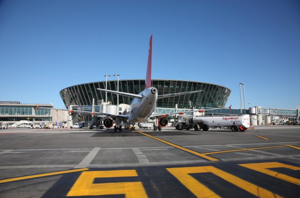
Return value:
M 176 104 L 178 104 L 178 108 L 180 109 L 190 109 L 191 107 L 225 107 L 231 93 L 231 90 L 227 87 L 195 81 L 152 80 L 152 86 L 157 88 L 158 95 L 204 90 L 200 93 L 158 99 L 157 107 L 159 108 L 175 108 Z M 138 94 L 144 90 L 144 87 L 144 79 L 119 81 L 119 91 L 122 92 Z M 66 107 L 70 105 L 91 105 L 93 98 L 95 99 L 95 103 L 102 99 L 105 101 L 105 92 L 99 91 L 97 88 L 105 89 L 105 81 L 64 88 L 60 91 L 60 97 Z M 117 81 L 107 81 L 107 89 L 117 90 Z M 130 104 L 131 100 L 132 98 L 130 97 L 119 95 L 120 104 Z M 107 101 L 111 101 L 113 105 L 116 105 L 117 95 L 107 93 Z

